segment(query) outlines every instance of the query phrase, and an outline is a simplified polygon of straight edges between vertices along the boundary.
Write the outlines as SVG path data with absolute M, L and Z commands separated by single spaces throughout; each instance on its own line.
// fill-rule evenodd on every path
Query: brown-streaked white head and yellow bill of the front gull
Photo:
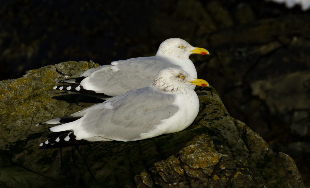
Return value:
M 185 70 L 177 68 L 161 70 L 151 85 L 165 92 L 183 92 L 191 85 L 209 87 L 206 80 L 192 78 Z

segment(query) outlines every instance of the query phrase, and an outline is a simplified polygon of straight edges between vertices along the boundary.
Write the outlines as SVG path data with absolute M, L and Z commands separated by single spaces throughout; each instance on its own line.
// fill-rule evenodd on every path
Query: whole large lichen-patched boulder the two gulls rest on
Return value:
M 294 160 L 232 118 L 212 87 L 197 91 L 200 112 L 181 132 L 39 150 L 51 132 L 36 123 L 100 102 L 55 82 L 96 66 L 64 62 L 0 82 L 0 187 L 304 187 Z

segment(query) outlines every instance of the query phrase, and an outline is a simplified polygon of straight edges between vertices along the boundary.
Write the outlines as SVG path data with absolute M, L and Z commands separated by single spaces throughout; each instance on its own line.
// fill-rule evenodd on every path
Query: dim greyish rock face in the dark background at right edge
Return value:
M 265 101 L 271 115 L 292 116 L 284 119 L 292 121 L 290 128 L 301 136 L 310 136 L 309 83 L 310 71 L 305 70 L 258 80 L 251 84 L 251 90 L 253 96 Z

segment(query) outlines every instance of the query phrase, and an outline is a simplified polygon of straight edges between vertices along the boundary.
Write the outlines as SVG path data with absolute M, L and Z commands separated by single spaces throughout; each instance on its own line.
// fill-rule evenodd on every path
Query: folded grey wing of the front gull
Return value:
M 161 120 L 172 117 L 178 111 L 174 100 L 174 95 L 151 87 L 127 92 L 107 100 L 106 109 L 86 112 L 78 128 L 74 129 L 74 135 L 86 140 L 98 136 L 110 140 L 134 140 L 152 130 Z

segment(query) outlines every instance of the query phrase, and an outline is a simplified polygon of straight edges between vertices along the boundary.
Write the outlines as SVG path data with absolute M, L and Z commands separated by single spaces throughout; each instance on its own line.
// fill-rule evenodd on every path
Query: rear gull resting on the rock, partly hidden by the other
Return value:
M 159 71 L 169 67 L 183 69 L 193 78 L 197 78 L 196 68 L 188 59 L 193 53 L 209 54 L 208 50 L 193 47 L 183 39 L 170 38 L 161 43 L 155 56 L 114 61 L 110 65 L 92 68 L 77 78 L 59 81 L 69 84 L 55 86 L 54 89 L 107 100 L 129 90 L 147 86 Z M 195 86 L 191 88 L 194 89 Z

